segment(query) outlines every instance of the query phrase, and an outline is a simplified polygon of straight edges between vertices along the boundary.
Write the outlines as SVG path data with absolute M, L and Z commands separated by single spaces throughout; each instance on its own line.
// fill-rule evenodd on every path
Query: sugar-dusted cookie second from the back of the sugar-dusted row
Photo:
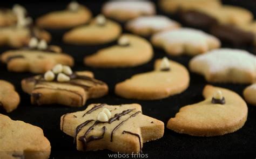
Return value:
M 127 30 L 142 36 L 150 36 L 153 33 L 172 30 L 180 27 L 180 24 L 166 16 L 143 16 L 132 19 L 126 24 Z

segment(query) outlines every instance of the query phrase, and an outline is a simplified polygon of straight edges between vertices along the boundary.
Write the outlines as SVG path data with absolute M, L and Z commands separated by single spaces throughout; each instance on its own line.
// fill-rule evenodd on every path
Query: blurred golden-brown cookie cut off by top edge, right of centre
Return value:
M 219 8 L 219 0 L 160 0 L 160 8 L 167 13 L 176 13 L 197 8 Z

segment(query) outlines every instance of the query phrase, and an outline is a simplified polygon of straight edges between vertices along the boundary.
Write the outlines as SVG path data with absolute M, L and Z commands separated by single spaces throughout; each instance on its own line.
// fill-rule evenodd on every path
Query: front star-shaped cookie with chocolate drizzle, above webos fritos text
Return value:
M 143 115 L 138 104 L 91 104 L 62 115 L 60 129 L 74 137 L 80 151 L 109 149 L 126 154 L 140 153 L 143 143 L 164 135 L 164 123 Z

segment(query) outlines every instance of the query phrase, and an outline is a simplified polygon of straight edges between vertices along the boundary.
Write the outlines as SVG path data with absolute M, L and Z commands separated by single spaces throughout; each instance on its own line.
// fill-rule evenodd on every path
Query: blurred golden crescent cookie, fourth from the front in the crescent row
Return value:
M 116 40 L 121 32 L 118 23 L 99 15 L 90 24 L 66 32 L 63 40 L 70 44 L 103 44 Z

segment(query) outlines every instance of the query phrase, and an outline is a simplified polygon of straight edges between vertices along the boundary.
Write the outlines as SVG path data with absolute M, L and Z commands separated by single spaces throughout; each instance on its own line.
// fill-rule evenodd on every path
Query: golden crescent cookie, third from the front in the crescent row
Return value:
M 147 63 L 153 57 L 153 48 L 146 39 L 123 34 L 118 44 L 101 49 L 84 59 L 92 67 L 132 67 Z

